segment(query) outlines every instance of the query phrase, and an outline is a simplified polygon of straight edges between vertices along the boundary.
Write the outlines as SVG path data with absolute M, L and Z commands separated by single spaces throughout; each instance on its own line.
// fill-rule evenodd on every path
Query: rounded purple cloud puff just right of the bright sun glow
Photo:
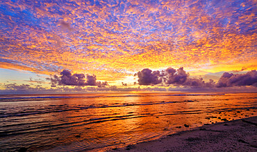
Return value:
M 144 68 L 135 74 L 138 75 L 138 84 L 140 85 L 154 85 L 160 84 L 163 80 L 160 77 L 160 71 L 152 71 L 149 68 Z

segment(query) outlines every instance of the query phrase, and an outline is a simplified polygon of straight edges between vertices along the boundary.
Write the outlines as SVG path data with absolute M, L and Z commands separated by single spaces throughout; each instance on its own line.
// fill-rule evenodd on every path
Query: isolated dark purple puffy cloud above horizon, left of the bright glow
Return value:
M 63 86 L 107 86 L 107 82 L 97 82 L 97 77 L 95 75 L 85 75 L 72 73 L 69 70 L 63 70 L 60 73 L 60 77 L 53 75 L 53 77 L 48 77 L 47 80 L 51 81 L 51 87 L 56 87 L 56 85 Z

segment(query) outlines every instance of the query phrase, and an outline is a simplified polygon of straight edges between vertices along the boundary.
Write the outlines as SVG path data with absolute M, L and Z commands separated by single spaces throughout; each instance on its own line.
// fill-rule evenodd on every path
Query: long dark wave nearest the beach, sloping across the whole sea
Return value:
M 9 135 L 21 135 L 24 133 L 36 133 L 42 131 L 53 131 L 58 129 L 67 129 L 70 127 L 76 126 L 85 126 L 88 124 L 97 124 L 102 122 L 109 122 L 109 121 L 116 121 L 116 120 L 127 120 L 127 119 L 134 119 L 138 117 L 156 117 L 156 116 L 167 116 L 167 115 L 194 115 L 199 113 L 217 113 L 217 112 L 224 112 L 224 111 L 238 111 L 238 110 L 247 110 L 247 109 L 256 109 L 256 106 L 247 107 L 247 108 L 221 108 L 219 110 L 212 110 L 212 111 L 174 111 L 173 113 L 166 113 L 160 115 L 151 115 L 150 113 L 142 113 L 140 115 L 115 115 L 115 116 L 108 116 L 105 117 L 94 117 L 94 118 L 87 118 L 85 120 L 74 121 L 74 122 L 63 122 L 63 123 L 51 123 L 46 121 L 41 122 L 28 122 L 28 123 L 20 123 L 20 124 L 10 124 L 10 125 L 3 125 L 0 126 L 0 137 L 6 137 Z M 15 129 L 13 128 L 15 126 Z M 23 126 L 19 128 L 19 126 Z M 90 129 L 90 128 L 88 128 Z

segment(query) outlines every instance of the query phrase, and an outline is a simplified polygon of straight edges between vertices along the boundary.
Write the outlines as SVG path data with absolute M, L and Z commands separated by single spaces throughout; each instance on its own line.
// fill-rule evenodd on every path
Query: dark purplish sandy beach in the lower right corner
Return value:
M 257 116 L 204 125 L 158 140 L 103 151 L 257 151 Z

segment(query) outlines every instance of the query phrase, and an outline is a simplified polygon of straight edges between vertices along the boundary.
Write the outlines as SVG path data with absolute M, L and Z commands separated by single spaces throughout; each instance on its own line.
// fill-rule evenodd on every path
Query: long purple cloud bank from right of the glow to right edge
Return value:
M 244 69 L 244 68 L 242 68 Z M 204 82 L 202 78 L 192 78 L 183 70 L 183 68 L 174 69 L 167 68 L 163 71 L 154 71 L 145 68 L 135 74 L 138 76 L 140 85 L 174 85 L 174 86 L 190 86 L 192 88 L 221 88 L 231 86 L 257 86 L 257 72 L 251 70 L 245 74 L 223 73 L 217 84 L 210 79 L 209 82 Z

